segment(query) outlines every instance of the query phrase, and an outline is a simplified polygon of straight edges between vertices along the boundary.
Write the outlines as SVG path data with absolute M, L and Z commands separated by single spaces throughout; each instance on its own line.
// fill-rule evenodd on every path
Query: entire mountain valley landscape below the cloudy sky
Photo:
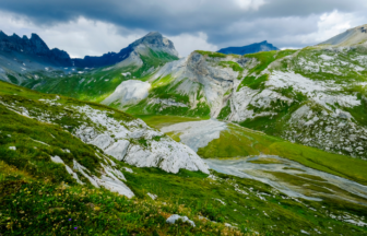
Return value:
M 364 28 L 186 58 L 152 32 L 84 59 L 0 32 L 0 232 L 367 235 Z

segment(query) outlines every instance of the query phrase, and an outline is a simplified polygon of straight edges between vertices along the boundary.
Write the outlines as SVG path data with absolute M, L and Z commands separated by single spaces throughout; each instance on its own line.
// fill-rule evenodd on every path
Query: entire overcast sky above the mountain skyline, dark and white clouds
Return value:
M 37 33 L 71 57 L 119 51 L 158 31 L 187 56 L 262 40 L 315 45 L 367 24 L 366 12 L 366 0 L 1 0 L 0 30 Z

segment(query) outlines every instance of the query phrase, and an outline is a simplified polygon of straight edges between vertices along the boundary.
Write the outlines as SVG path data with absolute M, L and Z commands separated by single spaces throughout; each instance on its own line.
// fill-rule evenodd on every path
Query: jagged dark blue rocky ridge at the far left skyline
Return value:
M 28 39 L 26 36 L 22 38 L 16 34 L 12 36 L 5 35 L 0 31 L 0 50 L 5 52 L 23 52 L 42 59 L 55 62 L 60 66 L 71 66 L 68 52 L 54 48 L 50 50 L 45 42 L 36 34 L 32 34 Z

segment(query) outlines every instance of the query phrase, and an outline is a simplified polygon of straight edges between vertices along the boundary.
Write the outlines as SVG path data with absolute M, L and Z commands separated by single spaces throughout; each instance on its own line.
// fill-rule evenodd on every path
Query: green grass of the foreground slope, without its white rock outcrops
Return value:
M 13 99 L 20 106 L 55 97 L 7 83 L 1 83 L 0 96 L 1 101 Z M 83 104 L 72 98 L 61 101 Z M 73 120 L 47 125 L 3 105 L 0 105 L 0 114 L 2 235 L 254 235 L 254 232 L 260 235 L 300 235 L 300 229 L 328 235 L 367 234 L 364 227 L 330 216 L 352 214 L 360 219 L 367 216 L 364 206 L 330 199 L 296 201 L 262 182 L 214 172 L 211 178 L 188 170 L 174 175 L 157 168 L 129 166 L 109 156 L 117 164 L 116 168 L 125 174 L 126 184 L 135 197 L 127 199 L 90 184 L 80 186 L 63 166 L 49 158 L 57 154 L 64 160 L 78 158 L 90 169 L 98 168 L 100 161 L 95 154 L 98 149 L 81 142 L 62 128 Z M 133 118 L 125 115 L 125 119 Z M 10 150 L 10 146 L 16 150 Z M 62 152 L 64 149 L 70 153 Z M 157 199 L 151 200 L 147 192 L 157 194 Z M 165 223 L 174 213 L 187 215 L 197 226 Z M 199 215 L 217 223 L 200 220 Z M 224 223 L 237 228 L 226 227 Z

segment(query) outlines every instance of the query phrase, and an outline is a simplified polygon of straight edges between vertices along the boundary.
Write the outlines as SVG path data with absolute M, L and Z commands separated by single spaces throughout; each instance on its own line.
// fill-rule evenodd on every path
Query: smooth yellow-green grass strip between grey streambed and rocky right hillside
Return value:
M 292 143 L 235 125 L 229 125 L 229 129 L 223 131 L 220 139 L 199 149 L 198 154 L 205 158 L 279 155 L 305 166 L 367 185 L 367 165 L 363 160 Z

